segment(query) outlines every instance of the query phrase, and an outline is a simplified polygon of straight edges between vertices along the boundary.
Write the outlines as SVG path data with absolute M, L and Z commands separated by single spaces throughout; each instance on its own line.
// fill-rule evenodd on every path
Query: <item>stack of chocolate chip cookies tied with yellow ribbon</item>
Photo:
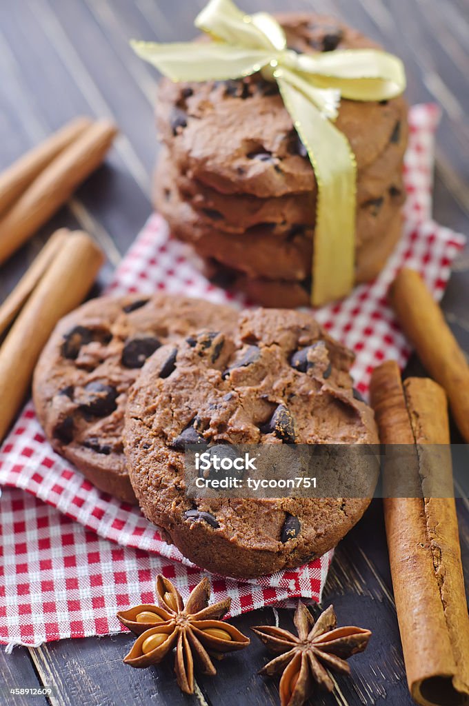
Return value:
M 330 18 L 279 18 L 297 52 L 376 47 Z M 358 167 L 355 280 L 383 268 L 400 237 L 407 107 L 342 100 L 336 126 Z M 309 304 L 317 185 L 277 85 L 240 80 L 160 84 L 164 144 L 155 205 L 218 283 L 264 306 Z

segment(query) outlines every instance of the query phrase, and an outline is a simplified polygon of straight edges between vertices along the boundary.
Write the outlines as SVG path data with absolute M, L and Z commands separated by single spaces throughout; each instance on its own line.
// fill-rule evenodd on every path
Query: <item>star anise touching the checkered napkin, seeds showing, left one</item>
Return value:
M 210 582 L 203 578 L 184 608 L 179 591 L 158 574 L 158 606 L 135 606 L 117 614 L 122 625 L 139 635 L 124 662 L 135 667 L 159 664 L 176 648 L 174 671 L 179 688 L 194 693 L 194 657 L 203 674 L 216 674 L 210 657 L 222 659 L 225 652 L 242 650 L 249 638 L 220 620 L 230 609 L 231 599 L 208 605 Z

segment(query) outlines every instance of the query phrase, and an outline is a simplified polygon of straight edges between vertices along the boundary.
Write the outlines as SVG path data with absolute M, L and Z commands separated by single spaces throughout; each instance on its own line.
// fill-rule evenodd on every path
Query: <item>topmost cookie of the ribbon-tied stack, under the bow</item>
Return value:
M 278 19 L 288 46 L 298 52 L 376 47 L 360 32 L 332 18 L 295 13 Z M 355 153 L 359 183 L 367 167 L 388 148 L 400 147 L 402 155 L 406 112 L 402 97 L 340 102 L 336 126 Z M 225 82 L 162 80 L 157 121 L 179 169 L 189 169 L 194 179 L 212 189 L 261 198 L 316 193 L 307 152 L 277 86 L 260 73 Z

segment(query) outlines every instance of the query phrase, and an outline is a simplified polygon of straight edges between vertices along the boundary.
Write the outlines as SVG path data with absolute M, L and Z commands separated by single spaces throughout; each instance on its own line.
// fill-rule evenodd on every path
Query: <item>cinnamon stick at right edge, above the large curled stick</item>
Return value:
M 469 365 L 440 307 L 422 277 L 408 268 L 398 273 L 390 299 L 425 368 L 446 390 L 458 429 L 469 443 Z

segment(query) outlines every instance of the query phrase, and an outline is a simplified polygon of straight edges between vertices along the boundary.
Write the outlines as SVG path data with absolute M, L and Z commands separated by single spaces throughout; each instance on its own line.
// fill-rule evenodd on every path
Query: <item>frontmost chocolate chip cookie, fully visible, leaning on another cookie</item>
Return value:
M 198 566 L 253 577 L 320 556 L 360 519 L 359 498 L 189 498 L 184 448 L 377 443 L 354 394 L 353 356 L 308 313 L 257 309 L 235 333 L 201 330 L 158 349 L 126 407 L 125 453 L 143 513 Z M 230 448 L 230 447 L 227 447 Z

